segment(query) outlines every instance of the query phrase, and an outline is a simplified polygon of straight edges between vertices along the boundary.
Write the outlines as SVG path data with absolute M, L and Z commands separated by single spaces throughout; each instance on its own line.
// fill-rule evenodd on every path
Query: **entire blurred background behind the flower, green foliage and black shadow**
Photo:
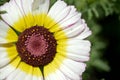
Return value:
M 9 0 L 0 0 L 0 5 Z M 56 0 L 51 0 L 51 5 Z M 83 80 L 118 80 L 120 54 L 120 0 L 64 0 L 75 5 L 92 30 L 90 61 Z M 4 13 L 4 12 L 0 12 Z

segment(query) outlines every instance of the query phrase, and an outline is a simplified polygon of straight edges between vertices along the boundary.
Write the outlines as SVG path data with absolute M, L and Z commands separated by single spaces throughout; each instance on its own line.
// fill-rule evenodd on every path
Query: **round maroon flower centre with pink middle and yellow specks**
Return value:
M 56 45 L 53 34 L 46 28 L 33 26 L 19 35 L 16 48 L 22 61 L 32 66 L 44 66 L 53 60 Z

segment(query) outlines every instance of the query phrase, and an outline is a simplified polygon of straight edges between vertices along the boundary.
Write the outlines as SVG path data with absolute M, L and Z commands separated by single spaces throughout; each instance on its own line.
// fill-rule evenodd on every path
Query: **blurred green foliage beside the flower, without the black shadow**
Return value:
M 3 5 L 9 0 L 0 0 L 0 5 Z M 51 5 L 56 0 L 51 0 Z M 108 61 L 104 59 L 103 52 L 108 44 L 108 41 L 103 40 L 99 33 L 101 24 L 98 21 L 109 15 L 117 14 L 120 16 L 120 0 L 64 0 L 69 5 L 75 5 L 78 11 L 82 13 L 82 17 L 92 30 L 92 35 L 88 38 L 92 43 L 92 51 L 90 61 L 87 62 L 87 70 L 83 74 L 83 80 L 98 80 L 95 78 L 94 71 L 109 72 L 110 66 Z M 0 14 L 4 11 L 0 12 Z M 100 80 L 100 79 L 99 79 Z M 105 80 L 102 78 L 101 80 Z

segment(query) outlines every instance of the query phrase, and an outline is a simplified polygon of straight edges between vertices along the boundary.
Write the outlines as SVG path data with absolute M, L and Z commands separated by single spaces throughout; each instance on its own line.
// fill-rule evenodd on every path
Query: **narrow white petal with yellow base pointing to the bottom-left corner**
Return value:
M 0 80 L 5 79 L 10 73 L 12 73 L 18 66 L 19 62 L 20 62 L 20 58 L 16 58 L 9 65 L 0 68 Z

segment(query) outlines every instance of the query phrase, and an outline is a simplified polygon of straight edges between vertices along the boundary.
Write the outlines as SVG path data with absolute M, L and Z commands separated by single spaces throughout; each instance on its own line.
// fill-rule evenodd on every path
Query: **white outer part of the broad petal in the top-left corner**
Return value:
M 21 11 L 14 0 L 10 0 L 9 3 L 1 6 L 0 11 L 6 11 L 5 14 L 1 14 L 1 17 L 6 23 L 11 26 L 22 16 Z

